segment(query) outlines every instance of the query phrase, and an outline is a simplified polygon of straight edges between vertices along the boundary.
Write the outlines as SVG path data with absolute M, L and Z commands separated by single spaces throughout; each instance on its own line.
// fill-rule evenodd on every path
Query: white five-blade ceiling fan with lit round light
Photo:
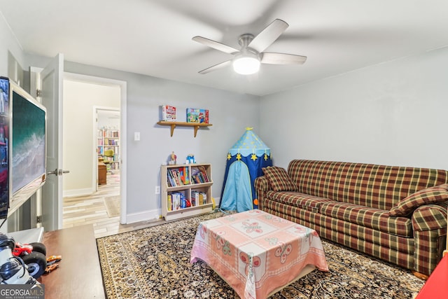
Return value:
M 303 64 L 307 60 L 306 56 L 263 52 L 271 46 L 276 39 L 288 28 L 288 23 L 276 19 L 262 30 L 257 36 L 252 34 L 242 34 L 238 42 L 241 49 L 237 50 L 218 41 L 212 41 L 202 36 L 193 37 L 193 41 L 202 43 L 205 46 L 220 50 L 221 52 L 233 55 L 231 60 L 215 64 L 212 67 L 199 71 L 199 74 L 207 74 L 232 64 L 238 74 L 250 75 L 260 69 L 260 64 Z

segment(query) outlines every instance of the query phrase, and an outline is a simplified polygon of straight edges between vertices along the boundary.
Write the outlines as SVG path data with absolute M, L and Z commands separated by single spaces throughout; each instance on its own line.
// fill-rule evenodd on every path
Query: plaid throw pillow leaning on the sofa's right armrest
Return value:
M 390 209 L 390 216 L 408 216 L 414 209 L 423 204 L 435 204 L 448 200 L 448 183 L 439 186 L 433 186 L 403 198 L 398 204 Z

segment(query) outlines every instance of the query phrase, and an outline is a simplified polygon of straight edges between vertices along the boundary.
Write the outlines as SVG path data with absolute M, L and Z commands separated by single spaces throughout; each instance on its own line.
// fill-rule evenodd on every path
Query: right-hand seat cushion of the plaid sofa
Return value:
M 390 217 L 388 211 L 350 204 L 347 202 L 324 202 L 321 214 L 350 223 L 372 228 L 392 235 L 412 237 L 412 221 L 405 217 Z M 353 236 L 357 233 L 353 232 Z

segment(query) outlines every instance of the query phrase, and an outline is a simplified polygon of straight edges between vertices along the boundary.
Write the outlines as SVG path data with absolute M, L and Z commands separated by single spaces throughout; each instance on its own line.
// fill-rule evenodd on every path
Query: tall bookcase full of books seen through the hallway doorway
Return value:
M 111 150 L 113 155 L 104 155 Z M 98 158 L 104 158 L 104 163 L 107 165 L 109 172 L 118 172 L 120 170 L 120 130 L 99 129 L 97 132 L 97 153 Z

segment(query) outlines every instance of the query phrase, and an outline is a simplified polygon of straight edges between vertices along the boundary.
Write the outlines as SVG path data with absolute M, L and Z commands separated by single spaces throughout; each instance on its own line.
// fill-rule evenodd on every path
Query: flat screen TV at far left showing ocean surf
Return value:
M 45 107 L 13 81 L 0 77 L 0 93 L 0 218 L 6 218 L 45 183 L 47 122 Z

